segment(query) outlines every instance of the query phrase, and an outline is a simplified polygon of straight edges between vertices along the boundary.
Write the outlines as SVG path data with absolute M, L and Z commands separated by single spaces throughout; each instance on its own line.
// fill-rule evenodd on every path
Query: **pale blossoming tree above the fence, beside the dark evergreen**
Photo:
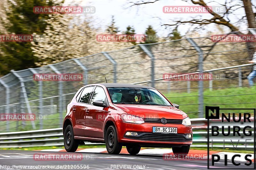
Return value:
M 47 23 L 40 41 L 32 42 L 37 66 L 132 46 L 127 42 L 97 41 L 96 35 L 102 33 L 91 25 L 89 18 L 79 15 L 54 14 Z

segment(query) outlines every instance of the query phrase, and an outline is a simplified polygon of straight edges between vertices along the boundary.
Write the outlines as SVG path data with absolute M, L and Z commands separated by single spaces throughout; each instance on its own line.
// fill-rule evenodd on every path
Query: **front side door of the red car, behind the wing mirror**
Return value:
M 90 105 L 86 110 L 84 134 L 86 137 L 103 138 L 103 121 L 108 113 L 108 107 L 94 106 L 92 103 L 96 100 L 108 102 L 102 87 L 96 86 L 91 95 Z

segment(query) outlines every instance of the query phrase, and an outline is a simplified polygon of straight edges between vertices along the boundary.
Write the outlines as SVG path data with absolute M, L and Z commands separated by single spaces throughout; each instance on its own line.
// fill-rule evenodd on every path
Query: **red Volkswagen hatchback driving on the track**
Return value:
M 126 146 L 130 154 L 141 147 L 172 148 L 187 155 L 192 144 L 188 115 L 155 88 L 131 84 L 92 84 L 80 88 L 67 107 L 64 145 L 75 152 L 85 141 L 106 143 L 110 154 Z

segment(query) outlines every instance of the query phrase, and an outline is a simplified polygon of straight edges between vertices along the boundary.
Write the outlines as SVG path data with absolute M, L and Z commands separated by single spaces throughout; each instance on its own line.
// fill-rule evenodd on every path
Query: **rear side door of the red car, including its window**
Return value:
M 90 95 L 92 94 L 94 86 L 85 87 L 82 92 L 76 97 L 76 104 L 72 107 L 72 112 L 75 117 L 74 134 L 75 136 L 84 137 L 85 114 Z

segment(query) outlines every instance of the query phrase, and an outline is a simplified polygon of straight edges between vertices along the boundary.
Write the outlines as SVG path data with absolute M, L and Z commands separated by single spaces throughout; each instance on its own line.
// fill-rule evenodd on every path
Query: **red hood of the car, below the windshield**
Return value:
M 126 113 L 143 118 L 166 118 L 166 119 L 184 119 L 187 116 L 176 107 L 154 106 L 154 105 L 129 105 L 115 104 L 116 107 L 124 110 Z

